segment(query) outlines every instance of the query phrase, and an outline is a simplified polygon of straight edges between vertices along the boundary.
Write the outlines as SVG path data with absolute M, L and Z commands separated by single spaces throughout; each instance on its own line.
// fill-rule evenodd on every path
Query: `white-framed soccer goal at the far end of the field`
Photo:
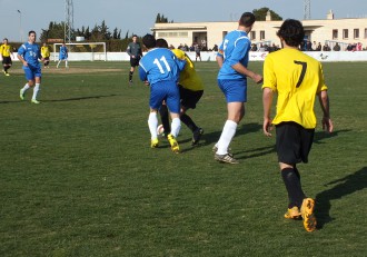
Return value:
M 53 43 L 53 60 L 59 60 L 62 43 Z M 69 61 L 107 61 L 106 42 L 66 43 Z

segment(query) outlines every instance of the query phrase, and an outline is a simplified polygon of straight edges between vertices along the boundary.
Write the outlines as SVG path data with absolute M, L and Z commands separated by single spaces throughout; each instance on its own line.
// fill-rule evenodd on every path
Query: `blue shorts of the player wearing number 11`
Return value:
M 150 108 L 159 110 L 163 100 L 170 112 L 180 113 L 180 91 L 176 81 L 161 81 L 150 86 Z

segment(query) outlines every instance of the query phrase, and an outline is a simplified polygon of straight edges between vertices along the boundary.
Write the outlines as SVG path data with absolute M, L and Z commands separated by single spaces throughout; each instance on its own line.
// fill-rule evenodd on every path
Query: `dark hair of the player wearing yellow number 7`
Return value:
M 285 40 L 289 47 L 298 47 L 305 38 L 305 30 L 299 20 L 287 19 L 280 26 L 277 36 Z

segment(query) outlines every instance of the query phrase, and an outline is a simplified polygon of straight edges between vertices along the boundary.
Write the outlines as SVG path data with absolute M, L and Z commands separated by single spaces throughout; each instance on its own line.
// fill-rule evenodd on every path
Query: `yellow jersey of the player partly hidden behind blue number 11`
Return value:
M 180 78 L 178 83 L 184 88 L 200 91 L 204 90 L 204 83 L 198 73 L 195 70 L 195 66 L 191 59 L 180 49 L 172 49 L 175 56 L 181 60 L 186 60 L 185 69 L 180 72 Z

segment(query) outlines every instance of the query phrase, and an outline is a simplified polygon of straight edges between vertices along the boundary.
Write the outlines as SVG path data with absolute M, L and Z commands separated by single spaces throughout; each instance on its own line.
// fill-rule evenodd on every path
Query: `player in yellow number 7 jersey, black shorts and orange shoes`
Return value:
M 316 229 L 315 201 L 306 197 L 300 184 L 298 162 L 308 162 L 316 116 L 314 103 L 319 99 L 324 117 L 323 128 L 333 131 L 329 98 L 320 62 L 302 53 L 299 46 L 305 31 L 298 20 L 282 22 L 277 36 L 282 49 L 269 53 L 264 62 L 264 134 L 271 136 L 270 126 L 276 127 L 276 149 L 280 174 L 288 191 L 288 210 L 285 218 L 304 219 L 307 231 Z M 277 93 L 277 113 L 270 119 L 272 96 Z

